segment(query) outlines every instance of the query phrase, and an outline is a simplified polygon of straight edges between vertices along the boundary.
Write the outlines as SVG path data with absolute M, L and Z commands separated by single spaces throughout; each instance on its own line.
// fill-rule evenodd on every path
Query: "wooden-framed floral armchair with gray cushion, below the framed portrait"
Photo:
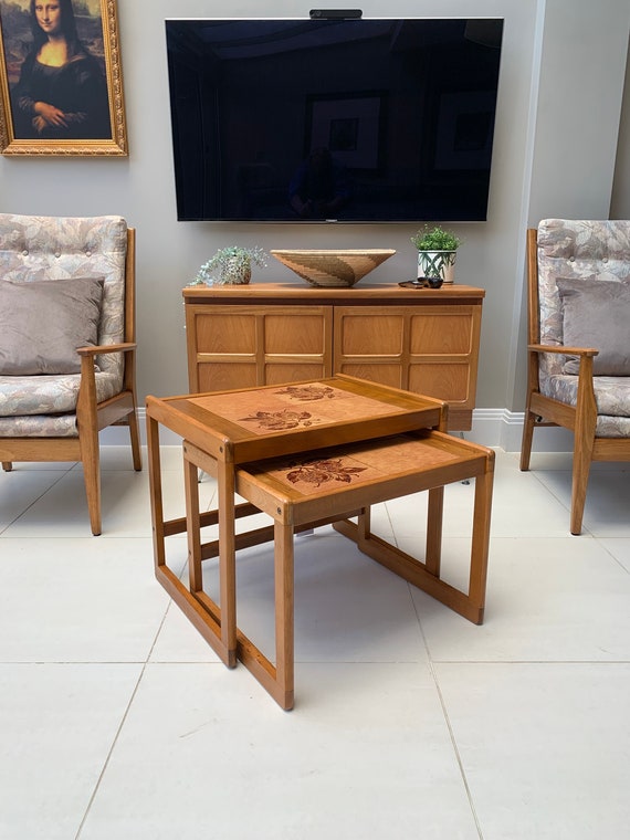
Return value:
M 127 426 L 141 469 L 135 350 L 134 229 L 114 216 L 0 213 L 2 468 L 81 461 L 95 535 L 99 430 Z

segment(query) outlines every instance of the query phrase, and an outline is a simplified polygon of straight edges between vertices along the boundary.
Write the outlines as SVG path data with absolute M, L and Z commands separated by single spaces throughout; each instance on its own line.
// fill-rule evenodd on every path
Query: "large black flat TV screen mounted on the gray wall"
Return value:
M 503 20 L 167 20 L 179 220 L 486 219 Z

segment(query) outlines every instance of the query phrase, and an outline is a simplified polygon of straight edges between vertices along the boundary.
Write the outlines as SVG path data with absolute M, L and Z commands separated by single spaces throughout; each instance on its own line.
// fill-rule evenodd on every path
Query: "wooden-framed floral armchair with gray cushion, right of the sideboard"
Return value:
M 527 238 L 521 469 L 535 428 L 573 431 L 570 532 L 579 534 L 591 461 L 630 461 L 630 221 L 546 219 Z

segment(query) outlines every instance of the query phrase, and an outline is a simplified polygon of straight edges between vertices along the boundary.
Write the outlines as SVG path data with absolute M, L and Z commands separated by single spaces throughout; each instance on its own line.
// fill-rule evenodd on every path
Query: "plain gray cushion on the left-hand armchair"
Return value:
M 76 374 L 94 346 L 103 277 L 0 281 L 0 375 Z

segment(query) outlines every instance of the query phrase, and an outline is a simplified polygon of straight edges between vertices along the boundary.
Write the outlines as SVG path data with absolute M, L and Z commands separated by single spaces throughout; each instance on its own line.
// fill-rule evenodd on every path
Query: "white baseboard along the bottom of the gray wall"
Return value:
M 473 412 L 470 432 L 463 432 L 466 440 L 482 443 L 484 447 L 503 449 L 505 452 L 519 452 L 523 435 L 523 411 L 508 411 L 504 408 L 477 408 Z M 146 443 L 146 411 L 138 410 L 140 438 Z M 101 444 L 119 447 L 128 443 L 129 433 L 123 427 L 109 426 L 101 432 Z M 179 445 L 181 438 L 169 429 L 160 427 L 160 441 L 164 445 Z M 566 429 L 543 428 L 534 433 L 535 452 L 573 452 L 573 434 Z

